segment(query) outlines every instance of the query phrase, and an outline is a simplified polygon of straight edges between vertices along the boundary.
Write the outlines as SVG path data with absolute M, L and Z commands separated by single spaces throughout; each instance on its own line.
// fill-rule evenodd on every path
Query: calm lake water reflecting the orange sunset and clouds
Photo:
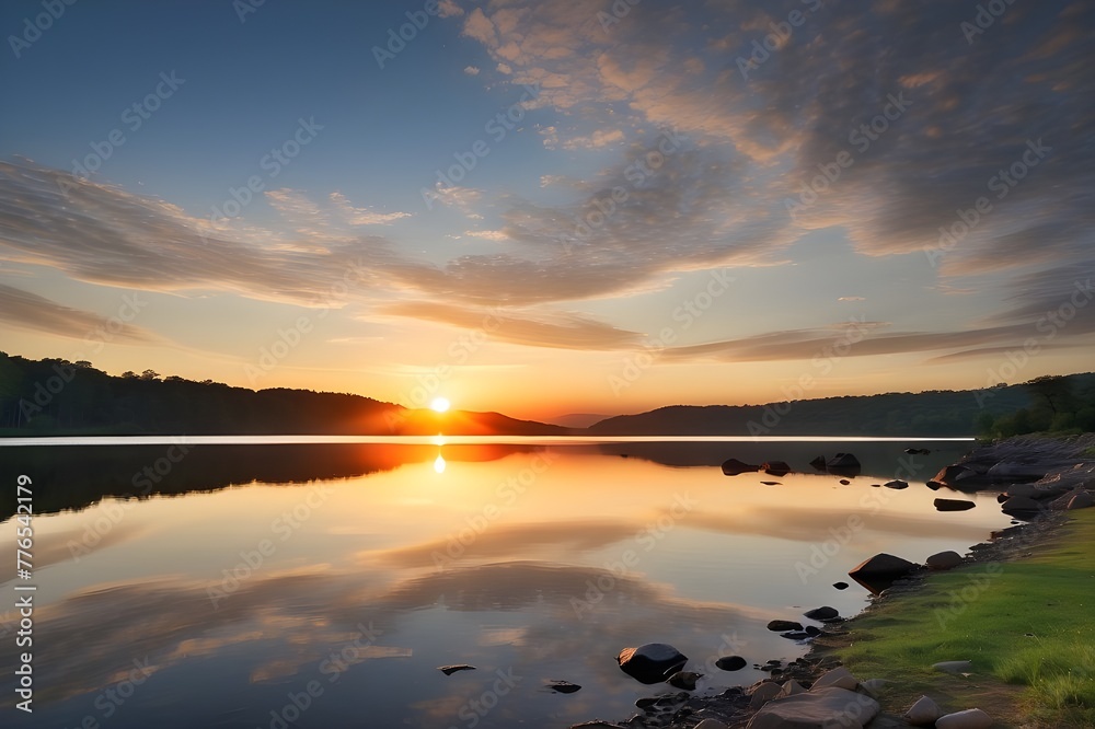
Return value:
M 832 588 L 850 567 L 964 552 L 1008 521 L 991 494 L 932 507 L 923 482 L 969 443 L 217 442 L 0 448 L 0 530 L 16 525 L 18 474 L 38 513 L 33 580 L 0 586 L 5 667 L 14 586 L 37 587 L 34 714 L 14 709 L 5 671 L 5 726 L 622 719 L 659 686 L 622 673 L 621 648 L 673 644 L 707 674 L 701 692 L 749 684 L 764 674 L 707 663 L 799 656 L 764 625 L 861 610 L 864 589 Z M 908 445 L 933 452 L 910 460 Z M 841 485 L 807 465 L 837 451 L 864 475 Z M 729 456 L 805 473 L 726 477 Z M 895 476 L 912 486 L 871 486 Z M 447 663 L 477 670 L 447 676 Z

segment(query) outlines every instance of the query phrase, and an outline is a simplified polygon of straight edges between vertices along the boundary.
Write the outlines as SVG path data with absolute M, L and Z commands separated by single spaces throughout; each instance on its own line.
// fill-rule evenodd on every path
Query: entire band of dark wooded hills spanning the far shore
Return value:
M 360 395 L 247 390 L 146 370 L 113 377 L 90 362 L 0 352 L 0 436 L 62 435 L 595 435 L 1010 436 L 1095 431 L 1095 374 L 978 391 L 825 397 L 768 405 L 676 405 L 588 429 L 498 413 L 407 409 Z

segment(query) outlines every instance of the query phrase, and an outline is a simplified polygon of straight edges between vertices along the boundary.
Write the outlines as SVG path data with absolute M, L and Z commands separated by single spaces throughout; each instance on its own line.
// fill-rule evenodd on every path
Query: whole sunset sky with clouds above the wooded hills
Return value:
M 0 349 L 552 419 L 1092 369 L 1088 2 L 0 7 Z

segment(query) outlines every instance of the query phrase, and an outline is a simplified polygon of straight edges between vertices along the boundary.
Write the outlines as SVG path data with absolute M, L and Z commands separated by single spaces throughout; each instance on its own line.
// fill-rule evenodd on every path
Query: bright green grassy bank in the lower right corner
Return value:
M 900 714 L 927 694 L 948 710 L 980 706 L 1012 727 L 1095 726 L 1095 509 L 1012 562 L 933 575 L 884 601 L 830 644 Z M 968 676 L 933 671 L 970 660 Z

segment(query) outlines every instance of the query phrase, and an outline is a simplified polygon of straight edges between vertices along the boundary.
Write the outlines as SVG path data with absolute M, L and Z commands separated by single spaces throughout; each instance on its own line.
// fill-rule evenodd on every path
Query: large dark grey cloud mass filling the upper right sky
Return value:
M 489 8 L 471 37 L 515 84 L 540 82 L 542 105 L 733 149 L 765 206 L 798 199 L 819 165 L 852 154 L 817 204 L 770 222 L 775 238 L 781 223 L 798 235 L 841 225 L 863 254 L 922 255 L 957 210 L 986 196 L 992 212 L 946 256 L 942 275 L 1086 261 L 1095 247 L 1095 142 L 1080 131 L 1095 96 L 1083 40 L 1095 7 L 1012 5 L 987 31 L 991 39 L 970 44 L 960 31 L 970 9 L 944 0 L 807 4 L 800 26 L 747 73 L 739 59 L 782 20 L 759 1 L 705 13 L 644 4 L 609 28 L 577 0 L 520 13 L 512 1 Z M 496 22 L 503 13 L 506 24 Z M 725 31 L 712 37 L 713 27 Z M 904 111 L 880 117 L 898 96 Z M 871 124 L 886 130 L 871 132 Z M 558 137 L 550 147 L 566 148 Z M 993 182 L 1038 140 L 1052 152 L 1016 185 Z

